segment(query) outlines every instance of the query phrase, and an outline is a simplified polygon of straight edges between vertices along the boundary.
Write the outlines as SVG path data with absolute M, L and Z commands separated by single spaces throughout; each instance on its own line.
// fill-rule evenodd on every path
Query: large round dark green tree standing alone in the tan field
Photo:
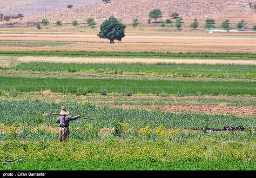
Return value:
M 121 41 L 125 36 L 124 31 L 126 26 L 122 24 L 115 17 L 111 16 L 108 20 L 105 20 L 101 24 L 101 31 L 97 34 L 98 37 L 110 40 L 110 43 L 114 43 L 114 40 Z

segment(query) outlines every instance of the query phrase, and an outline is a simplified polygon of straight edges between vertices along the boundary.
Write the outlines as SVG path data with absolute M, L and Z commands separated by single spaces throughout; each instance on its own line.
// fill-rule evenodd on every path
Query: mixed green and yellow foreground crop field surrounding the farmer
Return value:
M 60 166 L 52 166 L 60 160 L 67 161 L 71 170 L 255 169 L 255 116 L 174 114 L 88 104 L 66 106 L 72 113 L 80 112 L 96 120 L 75 120 L 70 140 L 58 143 L 56 117 L 41 116 L 41 113 L 58 112 L 61 105 L 39 101 L 0 102 L 4 108 L 0 114 L 7 116 L 2 119 L 1 128 L 6 132 L 0 134 L 0 156 L 22 158 L 12 169 L 23 165 L 25 170 L 31 166 L 35 170 L 60 170 Z M 183 132 L 209 125 L 214 128 L 243 125 L 247 129 L 243 133 Z M 112 164 L 96 168 L 97 163 Z

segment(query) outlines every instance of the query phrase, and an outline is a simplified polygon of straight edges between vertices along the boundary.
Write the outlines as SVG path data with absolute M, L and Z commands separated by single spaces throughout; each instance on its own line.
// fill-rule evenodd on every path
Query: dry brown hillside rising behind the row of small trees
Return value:
M 214 18 L 217 22 L 229 19 L 238 22 L 244 19 L 249 23 L 256 23 L 256 12 L 250 7 L 248 0 L 187 0 L 170 1 L 170 13 L 178 12 L 184 21 L 192 21 L 195 17 L 200 21 L 207 18 Z M 256 2 L 255 2 L 256 3 Z M 137 17 L 140 22 L 148 20 L 151 10 L 160 8 L 163 14 L 162 19 L 168 18 L 168 1 L 166 0 L 112 0 L 110 3 L 98 3 L 73 9 L 64 9 L 55 13 L 48 13 L 47 19 L 50 22 L 62 20 L 63 22 L 85 22 L 89 17 L 93 17 L 100 22 L 114 15 L 123 22 L 130 23 Z M 27 18 L 30 21 L 40 21 L 41 16 Z

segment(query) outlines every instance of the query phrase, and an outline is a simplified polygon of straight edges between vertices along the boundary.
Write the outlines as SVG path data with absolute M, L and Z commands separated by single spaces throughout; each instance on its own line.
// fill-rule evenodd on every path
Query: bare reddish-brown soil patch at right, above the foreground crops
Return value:
M 159 108 L 162 111 L 170 112 L 203 112 L 208 114 L 217 113 L 235 113 L 235 114 L 256 114 L 256 106 L 216 106 L 216 105 L 162 105 L 162 106 L 145 106 L 145 105 L 122 105 L 122 108 L 145 108 L 145 109 L 156 109 Z

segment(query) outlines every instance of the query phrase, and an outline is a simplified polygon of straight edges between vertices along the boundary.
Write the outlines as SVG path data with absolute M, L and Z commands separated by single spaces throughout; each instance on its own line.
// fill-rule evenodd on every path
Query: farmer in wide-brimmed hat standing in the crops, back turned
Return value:
M 67 115 L 67 116 L 59 116 L 58 119 L 56 120 L 56 123 L 60 125 L 60 131 L 59 131 L 60 142 L 63 142 L 63 141 L 66 141 L 68 139 L 69 121 L 81 118 L 81 116 L 74 116 L 74 117 L 68 116 L 69 112 L 66 110 L 66 108 L 64 106 L 61 108 L 61 113 L 60 114 Z

